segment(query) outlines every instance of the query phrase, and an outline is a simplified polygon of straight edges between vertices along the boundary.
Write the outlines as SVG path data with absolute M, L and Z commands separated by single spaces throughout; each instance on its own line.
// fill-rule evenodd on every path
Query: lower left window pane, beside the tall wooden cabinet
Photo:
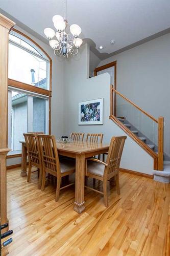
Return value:
M 21 151 L 23 133 L 27 133 L 27 94 L 12 91 L 11 149 L 15 153 Z

